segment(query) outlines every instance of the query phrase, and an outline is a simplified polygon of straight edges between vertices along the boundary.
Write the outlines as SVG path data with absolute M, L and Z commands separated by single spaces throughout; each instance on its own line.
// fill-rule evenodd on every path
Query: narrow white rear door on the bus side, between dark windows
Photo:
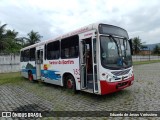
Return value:
M 36 50 L 36 75 L 41 79 L 41 67 L 43 64 L 43 49 Z

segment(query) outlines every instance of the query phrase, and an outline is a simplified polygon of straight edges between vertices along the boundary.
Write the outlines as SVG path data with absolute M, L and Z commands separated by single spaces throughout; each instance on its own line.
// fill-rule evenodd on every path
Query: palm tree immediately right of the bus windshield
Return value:
M 142 47 L 142 42 L 141 42 L 141 39 L 139 37 L 134 37 L 132 39 L 132 42 L 133 42 L 133 50 L 134 50 L 134 53 L 137 54 L 139 53 L 141 47 Z

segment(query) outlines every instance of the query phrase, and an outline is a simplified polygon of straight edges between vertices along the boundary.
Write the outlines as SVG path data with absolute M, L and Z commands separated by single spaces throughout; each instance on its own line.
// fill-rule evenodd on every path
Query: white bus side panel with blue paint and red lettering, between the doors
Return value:
M 79 58 L 45 60 L 41 73 L 44 82 L 60 86 L 64 86 L 63 75 L 70 73 L 75 78 L 77 90 L 80 90 Z

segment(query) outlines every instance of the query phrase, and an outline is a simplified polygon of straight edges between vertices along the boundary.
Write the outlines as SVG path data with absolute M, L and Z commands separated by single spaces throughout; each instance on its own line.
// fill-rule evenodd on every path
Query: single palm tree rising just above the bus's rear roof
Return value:
M 38 43 L 41 41 L 40 39 L 42 38 L 42 36 L 38 32 L 34 32 L 33 30 L 27 35 L 28 38 L 24 38 L 26 40 L 26 46 Z

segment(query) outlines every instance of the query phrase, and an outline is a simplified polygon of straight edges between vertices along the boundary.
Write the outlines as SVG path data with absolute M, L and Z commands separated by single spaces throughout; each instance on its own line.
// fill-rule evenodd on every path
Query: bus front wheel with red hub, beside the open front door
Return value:
M 67 75 L 65 78 L 65 87 L 67 89 L 70 89 L 73 91 L 73 93 L 76 93 L 76 83 L 75 79 L 72 75 Z

